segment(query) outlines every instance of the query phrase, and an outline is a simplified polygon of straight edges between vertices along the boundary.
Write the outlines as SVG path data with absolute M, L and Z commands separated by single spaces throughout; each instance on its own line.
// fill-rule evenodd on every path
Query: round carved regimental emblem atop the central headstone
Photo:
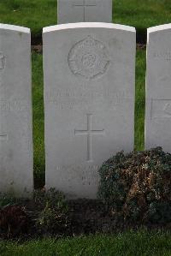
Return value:
M 109 53 L 102 42 L 88 36 L 78 42 L 69 52 L 68 65 L 73 74 L 93 79 L 106 72 Z

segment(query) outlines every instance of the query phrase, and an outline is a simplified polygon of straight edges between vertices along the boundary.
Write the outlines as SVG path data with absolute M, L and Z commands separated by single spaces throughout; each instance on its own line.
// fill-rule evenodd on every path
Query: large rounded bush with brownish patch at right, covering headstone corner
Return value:
M 98 196 L 128 223 L 171 222 L 171 154 L 118 152 L 99 170 Z

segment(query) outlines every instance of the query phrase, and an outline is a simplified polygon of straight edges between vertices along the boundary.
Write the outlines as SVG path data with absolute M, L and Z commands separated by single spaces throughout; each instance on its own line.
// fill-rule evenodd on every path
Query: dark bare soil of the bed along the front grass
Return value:
M 17 208 L 16 211 L 20 211 Z M 125 225 L 123 223 L 118 223 L 115 220 L 113 214 L 107 209 L 105 209 L 102 201 L 92 200 L 92 199 L 77 199 L 68 201 L 68 220 L 69 225 L 67 229 L 64 229 L 62 232 L 59 230 L 53 230 L 53 233 L 50 231 L 44 232 L 39 231 L 35 226 L 35 219 L 38 217 L 37 205 L 35 205 L 32 200 L 23 201 L 21 207 L 24 207 L 24 211 L 27 214 L 26 225 L 23 225 L 19 228 L 24 228 L 23 232 L 20 234 L 7 235 L 1 234 L 0 229 L 0 238 L 1 239 L 17 239 L 18 241 L 25 241 L 28 239 L 36 239 L 46 236 L 53 237 L 62 237 L 62 236 L 75 236 L 75 235 L 89 235 L 95 233 L 118 233 L 125 231 L 127 229 L 139 229 L 139 227 L 133 225 Z M 0 212 L 1 213 L 1 212 Z M 21 214 L 23 217 L 23 213 Z M 19 216 L 20 217 L 20 216 Z M 25 217 L 25 214 L 24 214 Z M 1 222 L 0 222 L 1 223 Z M 146 228 L 150 229 L 171 229 L 171 223 L 165 227 L 158 225 L 147 226 Z

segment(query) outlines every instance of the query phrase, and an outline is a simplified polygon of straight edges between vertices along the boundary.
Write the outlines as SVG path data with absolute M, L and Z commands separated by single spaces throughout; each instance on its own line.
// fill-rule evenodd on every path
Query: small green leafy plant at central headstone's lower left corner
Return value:
M 36 221 L 38 230 L 44 234 L 66 234 L 69 227 L 68 204 L 63 193 L 51 188 L 48 191 L 39 190 L 34 194 L 38 207 Z

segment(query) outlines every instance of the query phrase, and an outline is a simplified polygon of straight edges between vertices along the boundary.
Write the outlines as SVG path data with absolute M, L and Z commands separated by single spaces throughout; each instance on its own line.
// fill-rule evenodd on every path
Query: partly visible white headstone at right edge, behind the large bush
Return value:
M 171 24 L 148 29 L 145 148 L 171 152 Z

